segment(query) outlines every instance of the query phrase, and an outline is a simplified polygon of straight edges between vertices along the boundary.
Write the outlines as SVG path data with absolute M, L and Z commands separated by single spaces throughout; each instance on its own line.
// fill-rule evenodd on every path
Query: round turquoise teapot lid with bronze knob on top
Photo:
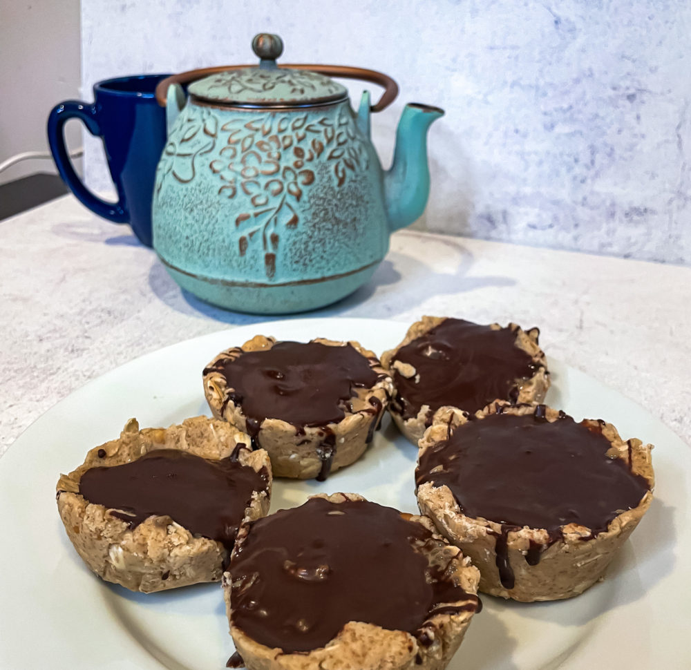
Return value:
M 276 59 L 283 52 L 278 35 L 256 35 L 252 50 L 261 59 L 258 67 L 205 77 L 190 84 L 189 93 L 205 102 L 243 107 L 312 106 L 348 99 L 348 89 L 325 75 L 278 68 Z

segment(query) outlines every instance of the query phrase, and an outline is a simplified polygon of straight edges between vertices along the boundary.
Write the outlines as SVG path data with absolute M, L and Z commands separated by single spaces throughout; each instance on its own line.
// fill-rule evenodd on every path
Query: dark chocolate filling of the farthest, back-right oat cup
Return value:
M 497 399 L 515 401 L 516 380 L 530 379 L 539 365 L 516 346 L 510 328 L 494 330 L 457 318 L 445 319 L 401 347 L 394 361 L 415 368 L 410 378 L 394 370 L 397 409 L 410 419 L 428 405 L 429 421 L 444 405 L 472 413 Z

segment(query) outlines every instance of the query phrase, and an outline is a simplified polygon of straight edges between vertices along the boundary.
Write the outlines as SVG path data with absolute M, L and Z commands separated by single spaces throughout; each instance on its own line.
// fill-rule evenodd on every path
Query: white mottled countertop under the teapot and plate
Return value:
M 401 231 L 369 285 L 298 316 L 460 316 L 538 325 L 547 356 L 638 401 L 691 441 L 691 269 Z M 0 454 L 100 374 L 266 318 L 182 294 L 129 227 L 71 195 L 0 221 Z

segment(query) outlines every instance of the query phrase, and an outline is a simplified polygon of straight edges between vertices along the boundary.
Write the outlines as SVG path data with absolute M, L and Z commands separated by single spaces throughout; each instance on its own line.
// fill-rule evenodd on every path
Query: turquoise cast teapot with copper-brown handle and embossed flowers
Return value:
M 427 131 L 444 111 L 406 105 L 384 172 L 370 113 L 396 97 L 390 77 L 279 67 L 277 35 L 257 35 L 252 47 L 258 66 L 194 70 L 158 86 L 168 139 L 153 191 L 153 247 L 202 300 L 254 314 L 303 312 L 366 283 L 390 233 L 422 214 Z M 328 75 L 386 90 L 375 106 L 365 91 L 355 112 Z

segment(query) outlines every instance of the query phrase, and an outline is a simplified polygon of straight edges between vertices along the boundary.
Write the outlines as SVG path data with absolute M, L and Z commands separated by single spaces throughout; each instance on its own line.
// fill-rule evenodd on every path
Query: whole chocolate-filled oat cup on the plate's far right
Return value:
M 545 405 L 447 408 L 420 441 L 417 501 L 482 575 L 522 602 L 583 593 L 652 501 L 652 445 Z

